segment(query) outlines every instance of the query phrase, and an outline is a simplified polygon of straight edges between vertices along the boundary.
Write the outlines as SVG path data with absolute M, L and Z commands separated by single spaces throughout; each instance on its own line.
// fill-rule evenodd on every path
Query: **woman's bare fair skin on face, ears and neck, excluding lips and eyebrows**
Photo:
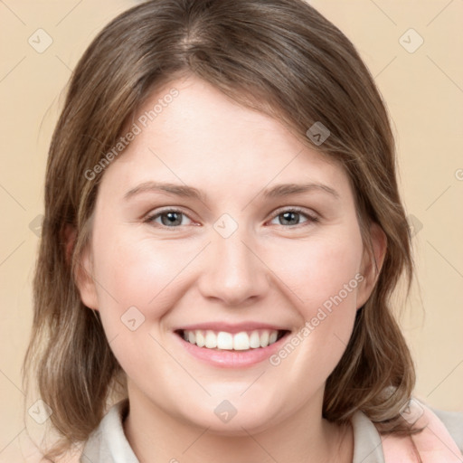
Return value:
M 372 225 L 371 256 L 344 170 L 203 80 L 171 82 L 140 114 L 173 87 L 178 97 L 103 175 L 78 283 L 128 375 L 128 441 L 141 463 L 351 462 L 352 430 L 322 419 L 323 392 L 373 290 L 373 258 L 381 269 L 383 231 Z M 191 185 L 205 198 L 152 191 L 124 200 L 147 181 Z M 307 182 L 338 197 L 321 189 L 262 194 Z M 301 213 L 296 224 L 284 222 L 281 209 L 296 206 L 319 220 Z M 185 214 L 180 225 L 163 227 L 160 216 L 145 222 L 168 207 Z M 238 225 L 228 238 L 213 228 L 223 213 Z M 362 282 L 278 366 L 218 368 L 175 339 L 179 326 L 210 321 L 296 333 L 358 273 Z M 145 317 L 135 331 L 120 319 L 132 306 Z M 213 412 L 223 400 L 237 410 L 228 422 Z

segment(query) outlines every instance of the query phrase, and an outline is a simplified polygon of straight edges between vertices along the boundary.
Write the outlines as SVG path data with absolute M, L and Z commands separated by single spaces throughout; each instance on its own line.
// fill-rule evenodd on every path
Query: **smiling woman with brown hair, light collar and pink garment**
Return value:
M 302 1 L 112 21 L 47 166 L 26 360 L 49 458 L 461 461 L 392 317 L 413 268 L 394 156 L 354 46 Z

